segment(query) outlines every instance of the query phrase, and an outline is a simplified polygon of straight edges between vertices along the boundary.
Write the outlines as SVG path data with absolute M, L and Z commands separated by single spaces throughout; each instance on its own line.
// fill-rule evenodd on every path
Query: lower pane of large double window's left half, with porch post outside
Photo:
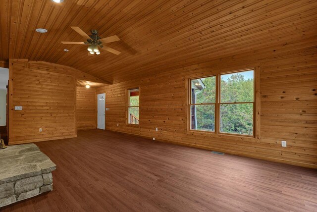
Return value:
M 214 105 L 192 105 L 190 129 L 214 132 Z

